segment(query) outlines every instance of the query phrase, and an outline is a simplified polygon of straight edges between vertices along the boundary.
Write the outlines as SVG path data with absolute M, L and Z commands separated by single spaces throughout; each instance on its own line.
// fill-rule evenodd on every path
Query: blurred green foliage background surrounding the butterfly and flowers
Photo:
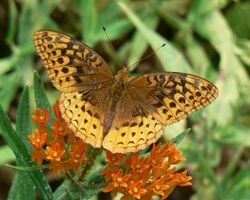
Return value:
M 188 168 L 193 186 L 177 188 L 169 199 L 250 199 L 250 1 L 1 0 L 0 28 L 0 105 L 14 127 L 26 85 L 29 115 L 34 113 L 35 70 L 50 102 L 59 97 L 35 54 L 34 31 L 73 35 L 94 48 L 114 71 L 166 43 L 131 69 L 132 76 L 156 71 L 192 73 L 209 79 L 220 91 L 206 109 L 165 130 L 162 140 L 192 128 L 179 149 L 187 158 L 180 169 Z M 21 199 L 13 198 L 15 171 L 5 164 L 15 164 L 15 155 L 1 134 L 2 130 L 0 199 Z M 49 175 L 47 179 L 53 191 L 62 181 Z M 92 196 L 98 198 L 104 199 L 102 194 Z

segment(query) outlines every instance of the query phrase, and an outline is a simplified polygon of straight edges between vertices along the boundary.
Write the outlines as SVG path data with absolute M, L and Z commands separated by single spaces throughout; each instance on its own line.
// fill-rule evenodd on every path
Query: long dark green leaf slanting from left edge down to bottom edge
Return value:
M 12 128 L 11 122 L 8 116 L 4 113 L 2 107 L 0 107 L 0 130 L 5 142 L 15 153 L 16 157 L 18 157 L 20 164 L 23 167 L 34 166 L 35 164 L 31 162 L 31 155 L 28 149 L 23 143 L 21 137 L 17 135 Z M 25 173 L 32 179 L 43 199 L 52 199 L 51 188 L 42 172 L 28 171 Z

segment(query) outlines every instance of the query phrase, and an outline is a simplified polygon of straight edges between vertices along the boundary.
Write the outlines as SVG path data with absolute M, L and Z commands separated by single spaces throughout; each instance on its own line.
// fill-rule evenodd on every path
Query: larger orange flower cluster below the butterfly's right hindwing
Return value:
M 106 151 L 107 166 L 102 175 L 108 185 L 104 192 L 115 196 L 123 194 L 122 199 L 152 199 L 154 195 L 167 198 L 176 186 L 190 186 L 191 176 L 187 171 L 177 173 L 172 165 L 185 161 L 182 153 L 176 149 L 176 144 L 166 142 L 154 145 L 147 157 L 140 152 L 131 153 L 128 157 L 123 154 L 112 154 Z

